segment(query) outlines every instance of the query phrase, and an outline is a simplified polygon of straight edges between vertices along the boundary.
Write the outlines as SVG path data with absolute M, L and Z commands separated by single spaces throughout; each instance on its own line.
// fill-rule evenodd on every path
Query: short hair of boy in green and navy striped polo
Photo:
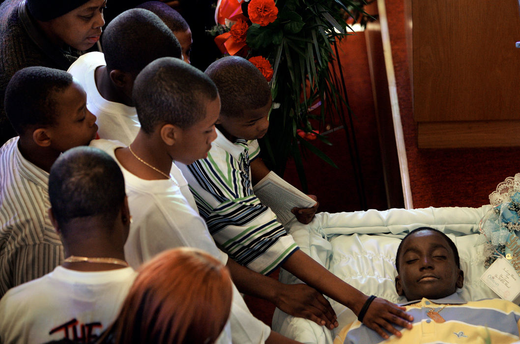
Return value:
M 204 73 L 217 85 L 221 115 L 240 117 L 244 110 L 264 107 L 271 96 L 262 72 L 242 57 L 223 57 L 210 64 Z

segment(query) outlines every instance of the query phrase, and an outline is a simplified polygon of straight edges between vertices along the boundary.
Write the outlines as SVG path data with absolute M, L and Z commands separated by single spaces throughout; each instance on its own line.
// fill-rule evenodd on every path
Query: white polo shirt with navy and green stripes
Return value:
M 178 166 L 215 242 L 240 264 L 268 274 L 298 246 L 253 193 L 250 161 L 258 153 L 256 140 L 231 142 L 217 130 L 207 158 Z

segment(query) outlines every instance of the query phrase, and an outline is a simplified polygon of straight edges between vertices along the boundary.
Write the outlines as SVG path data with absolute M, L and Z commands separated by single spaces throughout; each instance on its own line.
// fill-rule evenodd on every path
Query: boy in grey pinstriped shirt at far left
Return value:
M 19 136 L 0 148 L 0 297 L 63 260 L 47 215 L 48 173 L 62 152 L 87 145 L 97 131 L 85 91 L 56 69 L 18 71 L 7 86 L 5 110 Z

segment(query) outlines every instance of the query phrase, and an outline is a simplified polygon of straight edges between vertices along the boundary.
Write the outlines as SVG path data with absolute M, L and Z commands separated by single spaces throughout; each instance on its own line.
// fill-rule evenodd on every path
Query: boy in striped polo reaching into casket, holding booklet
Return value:
M 283 267 L 352 309 L 383 338 L 388 337 L 385 330 L 399 336 L 391 324 L 411 326 L 408 321 L 412 318 L 404 308 L 369 298 L 303 253 L 276 215 L 254 195 L 253 182 L 269 173 L 258 158 L 256 142 L 269 126 L 272 99 L 265 77 L 251 62 L 235 56 L 215 61 L 205 73 L 217 85 L 222 99 L 217 138 L 207 158 L 178 166 L 215 241 L 254 271 L 268 274 Z M 307 223 L 316 207 L 293 210 L 298 220 Z

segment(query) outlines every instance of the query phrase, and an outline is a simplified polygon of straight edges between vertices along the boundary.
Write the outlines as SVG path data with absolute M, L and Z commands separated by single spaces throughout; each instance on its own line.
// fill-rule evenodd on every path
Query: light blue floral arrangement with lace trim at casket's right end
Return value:
M 493 207 L 480 220 L 479 231 L 482 234 L 477 244 L 484 244 L 486 268 L 504 257 L 510 263 L 520 259 L 520 174 L 497 186 L 489 195 Z M 514 265 L 514 264 L 513 264 Z M 516 269 L 516 267 L 515 267 Z

